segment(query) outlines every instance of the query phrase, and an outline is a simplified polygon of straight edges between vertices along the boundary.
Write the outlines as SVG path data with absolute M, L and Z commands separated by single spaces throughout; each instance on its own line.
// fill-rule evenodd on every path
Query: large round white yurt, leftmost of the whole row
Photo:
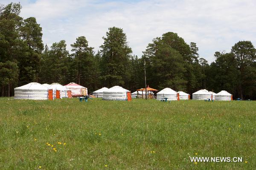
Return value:
M 47 100 L 48 88 L 40 83 L 31 82 L 27 85 L 15 88 L 14 99 Z

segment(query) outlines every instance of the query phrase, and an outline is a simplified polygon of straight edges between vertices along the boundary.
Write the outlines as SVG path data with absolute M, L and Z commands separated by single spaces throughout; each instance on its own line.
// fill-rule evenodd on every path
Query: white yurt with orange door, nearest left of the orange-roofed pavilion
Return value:
M 120 87 L 113 86 L 106 91 L 103 91 L 103 100 L 127 100 L 128 90 Z

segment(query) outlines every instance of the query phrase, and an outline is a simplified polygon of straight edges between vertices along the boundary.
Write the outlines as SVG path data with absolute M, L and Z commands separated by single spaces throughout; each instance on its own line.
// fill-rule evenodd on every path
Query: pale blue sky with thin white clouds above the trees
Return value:
M 85 36 L 97 52 L 109 27 L 127 35 L 133 54 L 141 57 L 153 38 L 175 32 L 186 43 L 195 42 L 200 57 L 214 61 L 215 51 L 230 52 L 238 41 L 256 46 L 254 0 L 1 0 L 20 2 L 20 16 L 35 17 L 43 42 L 66 40 L 67 49 Z

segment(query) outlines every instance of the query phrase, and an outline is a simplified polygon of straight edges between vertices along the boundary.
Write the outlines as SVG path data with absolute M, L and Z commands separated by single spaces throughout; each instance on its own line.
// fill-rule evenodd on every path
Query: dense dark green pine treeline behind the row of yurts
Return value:
M 170 87 L 189 94 L 206 88 L 226 90 L 243 99 L 256 99 L 256 49 L 250 41 L 239 41 L 230 53 L 215 52 L 215 62 L 199 57 L 195 42 L 187 44 L 176 33 L 167 32 L 148 44 L 142 57 L 132 55 L 121 28 L 108 28 L 100 51 L 93 51 L 86 37 L 71 44 L 65 40 L 51 47 L 42 42 L 42 28 L 34 17 L 19 16 L 19 3 L 0 5 L 0 96 L 12 96 L 14 88 L 29 82 L 77 82 L 92 92 L 120 85 L 131 91 L 147 84 Z

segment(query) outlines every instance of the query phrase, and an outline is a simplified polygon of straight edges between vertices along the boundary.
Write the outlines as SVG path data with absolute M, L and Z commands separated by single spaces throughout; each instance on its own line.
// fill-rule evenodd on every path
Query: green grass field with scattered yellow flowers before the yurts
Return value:
M 189 156 L 242 162 L 194 163 Z M 0 98 L 0 170 L 255 167 L 255 101 Z

